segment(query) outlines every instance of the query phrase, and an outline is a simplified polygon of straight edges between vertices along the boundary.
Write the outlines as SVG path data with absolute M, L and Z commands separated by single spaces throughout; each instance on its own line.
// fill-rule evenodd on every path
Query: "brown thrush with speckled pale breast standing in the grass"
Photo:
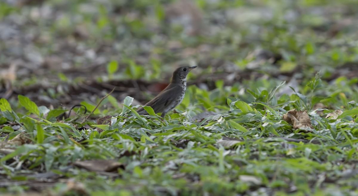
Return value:
M 146 103 L 145 106 L 152 107 L 155 113 L 161 113 L 161 117 L 163 117 L 167 112 L 182 103 L 185 90 L 187 89 L 187 75 L 195 67 L 197 66 L 183 66 L 176 69 L 170 84 L 151 101 Z M 148 114 L 144 108 L 139 108 L 137 112 L 140 115 Z

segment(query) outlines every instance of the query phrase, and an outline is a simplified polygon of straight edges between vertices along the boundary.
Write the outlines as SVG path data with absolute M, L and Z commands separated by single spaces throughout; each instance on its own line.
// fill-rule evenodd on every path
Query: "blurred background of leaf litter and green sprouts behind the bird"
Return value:
M 207 90 L 217 80 L 259 91 L 285 80 L 306 93 L 298 86 L 316 72 L 357 83 L 357 8 L 354 0 L 5 0 L 0 93 L 68 104 L 120 86 L 116 97 L 145 102 L 183 64 L 199 66 L 189 81 Z

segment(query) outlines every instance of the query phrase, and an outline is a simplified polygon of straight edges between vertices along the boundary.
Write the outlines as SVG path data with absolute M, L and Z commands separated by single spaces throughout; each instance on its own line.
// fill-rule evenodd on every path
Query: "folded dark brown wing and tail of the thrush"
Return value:
M 180 96 L 182 91 L 183 88 L 178 85 L 164 89 L 145 105 L 152 107 L 155 113 L 163 112 L 167 106 L 173 103 L 173 101 L 175 101 L 175 99 Z M 146 111 L 143 108 L 139 108 L 137 112 L 139 114 L 146 114 Z

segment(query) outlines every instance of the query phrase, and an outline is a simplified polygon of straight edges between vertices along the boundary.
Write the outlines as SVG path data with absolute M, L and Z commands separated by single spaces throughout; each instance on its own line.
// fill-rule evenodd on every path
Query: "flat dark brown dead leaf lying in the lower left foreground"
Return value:
M 118 168 L 124 168 L 124 165 L 114 160 L 90 160 L 90 161 L 76 161 L 73 165 L 85 168 L 89 171 L 98 172 L 114 172 Z

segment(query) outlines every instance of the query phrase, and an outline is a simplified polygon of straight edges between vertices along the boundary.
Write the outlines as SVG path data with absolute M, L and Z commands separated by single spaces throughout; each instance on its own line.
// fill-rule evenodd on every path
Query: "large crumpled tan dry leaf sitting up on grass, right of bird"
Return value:
M 313 129 L 311 119 L 306 111 L 297 111 L 296 109 L 291 109 L 282 116 L 282 119 L 284 119 L 289 124 L 292 124 L 294 129 Z

